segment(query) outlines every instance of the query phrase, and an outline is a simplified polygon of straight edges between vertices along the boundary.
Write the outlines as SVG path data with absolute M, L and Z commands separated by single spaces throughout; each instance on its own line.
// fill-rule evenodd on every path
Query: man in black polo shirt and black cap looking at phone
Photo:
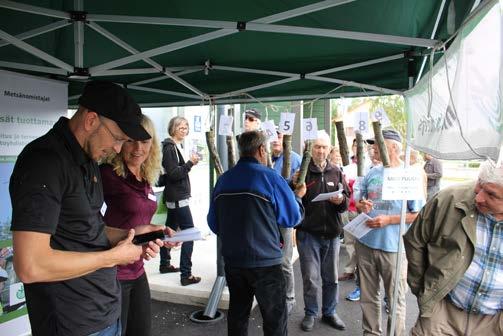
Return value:
M 105 226 L 97 161 L 130 139 L 150 138 L 141 119 L 124 89 L 89 82 L 75 115 L 19 155 L 9 186 L 11 230 L 33 335 L 120 335 L 115 266 L 154 257 L 162 242 L 142 248 L 132 243 L 135 230 Z

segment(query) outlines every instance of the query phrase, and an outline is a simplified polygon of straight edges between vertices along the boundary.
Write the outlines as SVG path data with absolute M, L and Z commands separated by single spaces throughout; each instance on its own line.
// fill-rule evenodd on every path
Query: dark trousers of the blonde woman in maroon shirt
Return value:
M 122 335 L 149 336 L 151 328 L 150 289 L 147 275 L 135 280 L 121 280 Z

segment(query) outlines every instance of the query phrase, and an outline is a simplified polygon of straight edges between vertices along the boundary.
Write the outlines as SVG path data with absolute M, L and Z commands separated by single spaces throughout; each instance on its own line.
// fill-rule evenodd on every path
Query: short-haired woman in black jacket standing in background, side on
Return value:
M 164 200 L 168 208 L 166 226 L 173 230 L 185 230 L 194 227 L 189 208 L 190 179 L 189 171 L 198 163 L 197 154 L 192 154 L 189 160 L 183 155 L 182 143 L 189 134 L 189 123 L 183 117 L 174 117 L 168 125 L 169 138 L 162 142 L 162 166 L 164 175 L 160 185 L 164 185 Z M 200 277 L 192 275 L 192 249 L 194 242 L 184 242 L 180 255 L 180 268 L 171 265 L 169 248 L 161 248 L 161 264 L 159 272 L 172 273 L 180 271 L 181 284 L 187 286 L 201 281 Z

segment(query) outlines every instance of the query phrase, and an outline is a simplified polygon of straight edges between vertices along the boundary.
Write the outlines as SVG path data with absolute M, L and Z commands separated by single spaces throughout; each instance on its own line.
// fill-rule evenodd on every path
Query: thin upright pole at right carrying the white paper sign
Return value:
M 414 78 L 409 77 L 409 89 L 414 86 Z M 408 114 L 407 114 L 408 115 Z M 408 168 L 410 165 L 410 142 L 412 138 L 412 123 L 410 120 L 407 121 L 407 135 L 405 141 L 405 162 L 404 168 Z M 405 258 L 404 249 L 403 249 L 403 235 L 406 232 L 405 229 L 405 218 L 407 216 L 407 200 L 402 200 L 402 211 L 400 213 L 400 229 L 398 235 L 398 253 L 396 256 L 396 265 L 395 265 L 395 281 L 394 281 L 394 290 L 393 290 L 393 304 L 391 305 L 391 324 L 390 324 L 390 335 L 395 335 L 395 326 L 397 322 L 396 318 L 396 309 L 397 309 L 397 298 L 398 298 L 398 287 L 400 284 L 401 273 L 402 273 L 402 260 Z

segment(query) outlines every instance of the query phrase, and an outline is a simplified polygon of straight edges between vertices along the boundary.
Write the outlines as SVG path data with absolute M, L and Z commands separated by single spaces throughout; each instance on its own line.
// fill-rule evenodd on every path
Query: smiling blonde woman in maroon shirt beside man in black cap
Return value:
M 152 185 L 161 170 L 160 146 L 152 121 L 143 116 L 141 124 L 151 139 L 126 141 L 119 154 L 100 166 L 108 226 L 134 229 L 149 224 L 157 208 Z M 122 335 L 150 335 L 150 290 L 143 260 L 118 266 L 117 278 L 122 291 Z

